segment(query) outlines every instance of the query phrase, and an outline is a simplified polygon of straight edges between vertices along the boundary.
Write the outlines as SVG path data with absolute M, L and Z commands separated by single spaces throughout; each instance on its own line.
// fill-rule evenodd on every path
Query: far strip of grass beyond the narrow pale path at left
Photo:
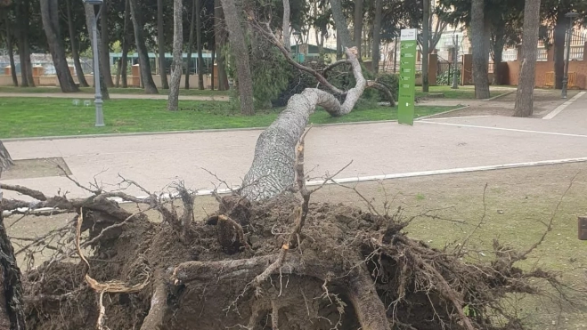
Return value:
M 183 85 L 182 85 L 183 86 Z M 81 93 L 94 93 L 94 87 L 81 87 Z M 144 94 L 142 88 L 109 88 L 109 93 L 112 94 Z M 12 87 L 12 86 L 0 86 L 0 93 L 61 93 L 61 89 L 57 87 Z M 169 95 L 168 89 L 160 89 L 159 94 Z M 191 95 L 191 96 L 214 96 L 214 95 L 228 95 L 227 91 L 210 91 L 199 89 L 185 90 L 180 88 L 180 95 Z

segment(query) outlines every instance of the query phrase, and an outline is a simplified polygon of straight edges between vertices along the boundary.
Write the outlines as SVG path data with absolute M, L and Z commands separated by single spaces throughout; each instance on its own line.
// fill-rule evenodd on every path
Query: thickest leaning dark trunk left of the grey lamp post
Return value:
M 40 4 L 43 28 L 45 29 L 45 36 L 47 36 L 47 43 L 49 44 L 61 92 L 78 92 L 79 89 L 69 71 L 68 61 L 65 57 L 65 47 L 59 33 L 59 3 L 57 0 L 41 0 Z

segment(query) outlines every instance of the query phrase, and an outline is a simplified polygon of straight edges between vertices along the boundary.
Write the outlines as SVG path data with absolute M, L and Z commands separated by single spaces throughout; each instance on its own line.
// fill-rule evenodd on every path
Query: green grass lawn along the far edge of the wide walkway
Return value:
M 94 127 L 94 105 L 74 106 L 70 99 L 57 98 L 1 98 L 0 138 L 265 127 L 280 111 L 246 117 L 233 111 L 229 102 L 219 101 L 180 101 L 180 108 L 167 111 L 165 100 L 105 101 L 106 126 Z M 420 106 L 415 111 L 416 117 L 423 117 L 449 109 Z M 330 117 L 318 109 L 310 122 L 318 125 L 396 118 L 396 108 L 363 105 L 344 117 Z

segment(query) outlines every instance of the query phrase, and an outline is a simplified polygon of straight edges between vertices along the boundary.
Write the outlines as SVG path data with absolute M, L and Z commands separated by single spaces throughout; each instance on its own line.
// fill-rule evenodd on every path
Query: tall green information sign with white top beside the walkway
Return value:
M 397 122 L 413 125 L 414 100 L 416 88 L 416 52 L 418 49 L 418 30 L 402 30 L 400 50 L 399 97 L 397 105 Z

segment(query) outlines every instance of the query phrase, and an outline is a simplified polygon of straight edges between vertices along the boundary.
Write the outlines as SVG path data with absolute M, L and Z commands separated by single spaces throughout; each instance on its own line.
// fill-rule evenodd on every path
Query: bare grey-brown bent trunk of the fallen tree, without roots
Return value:
M 306 88 L 301 94 L 289 98 L 287 108 L 257 140 L 253 164 L 242 183 L 241 197 L 251 201 L 269 199 L 293 187 L 296 145 L 316 106 L 324 108 L 330 116 L 344 116 L 355 107 L 363 94 L 367 82 L 357 55 L 356 48 L 346 49 L 356 85 L 346 93 L 342 105 L 334 95 L 316 88 Z

